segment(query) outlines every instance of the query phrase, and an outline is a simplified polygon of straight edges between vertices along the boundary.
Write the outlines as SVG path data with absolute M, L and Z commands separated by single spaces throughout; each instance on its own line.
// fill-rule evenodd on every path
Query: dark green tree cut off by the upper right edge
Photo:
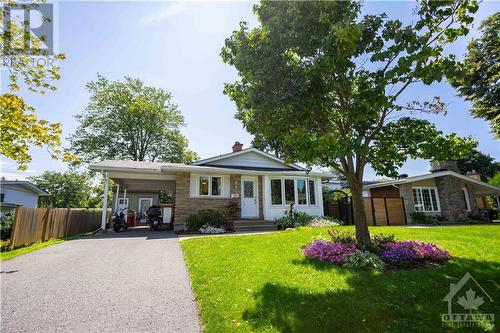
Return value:
M 500 138 L 500 12 L 483 21 L 480 30 L 482 36 L 470 42 L 451 82 L 472 102 L 472 115 L 489 121 Z

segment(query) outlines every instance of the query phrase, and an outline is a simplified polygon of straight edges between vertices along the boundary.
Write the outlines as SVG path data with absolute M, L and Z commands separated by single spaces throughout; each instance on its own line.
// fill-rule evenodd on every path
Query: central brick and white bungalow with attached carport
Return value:
M 105 160 L 90 169 L 117 184 L 111 207 L 128 207 L 139 221 L 161 197 L 173 198 L 174 230 L 184 229 L 186 218 L 198 210 L 230 205 L 237 207 L 238 220 L 254 222 L 281 217 L 292 203 L 298 211 L 323 215 L 321 182 L 330 175 L 242 147 L 236 142 L 231 153 L 189 165 Z

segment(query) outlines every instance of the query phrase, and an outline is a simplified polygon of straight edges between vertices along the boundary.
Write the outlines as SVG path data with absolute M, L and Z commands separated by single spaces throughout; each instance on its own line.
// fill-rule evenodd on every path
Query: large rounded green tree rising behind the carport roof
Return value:
M 139 79 L 110 81 L 102 75 L 89 82 L 90 102 L 76 116 L 80 125 L 70 137 L 71 149 L 84 162 L 102 159 L 191 162 L 180 132 L 184 118 L 169 92 Z

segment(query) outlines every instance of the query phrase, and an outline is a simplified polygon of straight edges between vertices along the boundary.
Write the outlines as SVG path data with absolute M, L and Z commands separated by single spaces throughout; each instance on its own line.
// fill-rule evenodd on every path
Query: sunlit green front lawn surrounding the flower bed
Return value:
M 496 301 L 485 299 L 480 309 L 500 315 L 498 226 L 373 227 L 372 234 L 434 242 L 453 256 L 439 268 L 384 273 L 305 260 L 299 249 L 326 231 L 301 228 L 183 240 L 206 332 L 492 330 L 488 325 L 443 328 L 441 314 L 447 312 L 442 299 L 450 283 L 469 272 Z

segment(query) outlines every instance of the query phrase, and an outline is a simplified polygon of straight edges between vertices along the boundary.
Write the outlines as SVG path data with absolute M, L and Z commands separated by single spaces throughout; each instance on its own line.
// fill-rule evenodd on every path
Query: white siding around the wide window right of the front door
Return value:
M 315 181 L 315 190 L 316 190 L 316 204 L 312 206 L 302 206 L 302 205 L 294 205 L 294 208 L 297 211 L 307 213 L 309 215 L 313 216 L 323 216 L 323 193 L 321 189 L 321 178 L 320 177 L 288 177 L 288 176 L 283 176 L 283 177 L 275 177 L 275 176 L 264 176 L 264 191 L 263 191 L 263 203 L 264 203 L 264 219 L 272 221 L 274 219 L 277 219 L 279 217 L 282 217 L 285 215 L 284 211 L 285 209 L 290 208 L 290 205 L 281 205 L 281 206 L 274 206 L 271 205 L 271 178 L 284 178 L 284 179 L 304 179 L 308 178 L 311 180 Z M 284 189 L 283 189 L 284 190 Z M 308 188 L 309 191 L 309 188 Z M 309 192 L 308 192 L 309 195 Z M 295 195 L 295 198 L 297 200 L 297 194 Z

